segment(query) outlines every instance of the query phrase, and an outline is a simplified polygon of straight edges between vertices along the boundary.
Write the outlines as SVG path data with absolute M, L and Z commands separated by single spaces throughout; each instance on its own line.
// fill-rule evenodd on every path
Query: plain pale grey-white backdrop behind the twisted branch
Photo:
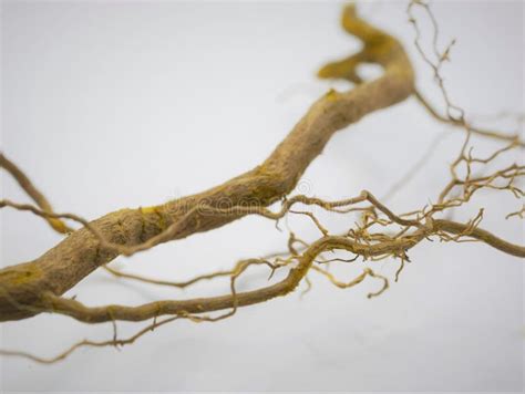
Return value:
M 419 86 L 441 103 L 414 51 L 405 6 L 367 3 L 361 11 L 405 43 Z M 522 2 L 435 3 L 441 43 L 459 39 L 445 76 L 467 114 L 523 111 L 523 9 Z M 58 211 L 87 218 L 223 183 L 259 164 L 330 86 L 350 87 L 315 77 L 323 62 L 359 48 L 340 29 L 340 11 L 337 2 L 4 1 L 2 151 Z M 445 129 L 414 100 L 369 115 L 332 138 L 300 191 L 337 199 L 367 188 L 382 196 Z M 460 131 L 446 132 L 389 206 L 400 212 L 435 200 L 461 143 Z M 474 143 L 481 155 L 501 146 Z M 1 185 L 4 197 L 28 200 L 8 176 Z M 506 194 L 483 193 L 454 218 L 467 220 L 482 206 L 483 227 L 523 243 L 519 221 L 504 219 L 521 201 Z M 326 220 L 337 234 L 354 218 Z M 31 260 L 61 238 L 29 214 L 4 210 L 1 224 L 1 266 Z M 303 218 L 289 226 L 317 237 Z M 282 250 L 286 239 L 272 222 L 248 217 L 119 259 L 115 267 L 182 280 Z M 366 298 L 379 286 L 372 279 L 340 290 L 311 274 L 313 288 L 302 299 L 305 283 L 219 323 L 175 322 L 121 352 L 84 349 L 51 366 L 0 359 L 0 388 L 521 391 L 522 262 L 476 243 L 426 242 L 411 259 L 400 281 L 373 300 Z M 350 279 L 361 266 L 338 272 Z M 391 260 L 375 265 L 390 276 L 397 267 Z M 264 284 L 260 278 L 248 273 L 240 289 Z M 68 294 L 87 304 L 137 304 L 227 291 L 227 282 L 156 289 L 102 271 Z M 2 348 L 44 356 L 83 338 L 112 335 L 111 324 L 55 315 L 2 323 L 1 330 Z M 119 324 L 122 336 L 135 330 Z

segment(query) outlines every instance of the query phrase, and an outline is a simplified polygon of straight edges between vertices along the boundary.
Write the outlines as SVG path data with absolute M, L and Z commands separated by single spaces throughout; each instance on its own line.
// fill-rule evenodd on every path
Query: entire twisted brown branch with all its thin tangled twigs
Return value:
M 413 17 L 415 7 L 421 7 L 429 15 L 433 27 L 433 56 L 431 60 L 420 43 L 421 31 Z M 347 7 L 342 18 L 343 28 L 361 39 L 363 49 L 343 61 L 325 66 L 322 77 L 342 77 L 356 84 L 347 93 L 330 91 L 309 110 L 290 135 L 277 147 L 274 154 L 259 167 L 228 183 L 200 195 L 171 201 L 163 206 L 122 210 L 89 221 L 72 214 L 55 214 L 42 194 L 29 178 L 4 155 L 0 165 L 9 172 L 37 205 L 0 200 L 0 208 L 30 211 L 48 220 L 53 229 L 68 237 L 41 258 L 24 265 L 0 270 L 0 320 L 17 320 L 41 312 L 60 313 L 86 323 L 111 322 L 114 334 L 111 340 L 95 342 L 84 340 L 55 357 L 43 359 L 18 351 L 2 351 L 2 354 L 21 355 L 42 363 L 52 363 L 66 357 L 81 346 L 123 346 L 135 342 L 145 333 L 178 319 L 194 322 L 214 322 L 236 313 L 239 307 L 250 305 L 281 297 L 294 291 L 301 281 L 309 286 L 307 274 L 319 273 L 333 286 L 347 289 L 363 282 L 368 277 L 378 280 L 379 287 L 369 298 L 382 294 L 390 286 L 391 278 L 377 273 L 371 267 L 375 261 L 391 259 L 399 261 L 393 278 L 398 281 L 405 265 L 410 262 L 410 250 L 425 240 L 442 242 L 484 242 L 505 253 L 525 257 L 525 247 L 505 241 L 482 229 L 483 210 L 467 222 L 443 218 L 443 214 L 467 204 L 478 190 L 492 189 L 509 191 L 516 198 L 524 197 L 519 182 L 525 175 L 525 166 L 509 164 L 490 169 L 505 153 L 523 147 L 517 135 L 488 132 L 472 127 L 465 120 L 464 111 L 453 104 L 446 93 L 441 66 L 449 59 L 452 43 L 443 51 L 437 48 L 437 23 L 429 6 L 420 0 L 409 4 L 410 22 L 415 28 L 415 45 L 432 68 L 434 77 L 443 93 L 446 116 L 437 112 L 423 98 L 413 85 L 413 71 L 401 44 L 387 33 L 359 19 L 353 7 Z M 362 63 L 378 63 L 384 74 L 374 81 L 363 81 L 357 66 Z M 434 201 L 423 208 L 397 214 L 383 200 L 368 190 L 343 199 L 329 201 L 311 196 L 287 197 L 297 184 L 308 164 L 320 153 L 330 136 L 338 129 L 358 121 L 366 114 L 390 106 L 415 95 L 430 113 L 440 121 L 461 126 L 465 141 L 456 159 L 451 164 L 451 179 L 439 191 Z M 507 145 L 497 148 L 488 157 L 476 157 L 471 144 L 472 135 L 482 135 Z M 290 148 L 290 146 L 292 148 Z M 404 177 L 403 179 L 406 179 Z M 398 187 L 400 185 L 397 185 Z M 227 201 L 225 206 L 223 203 Z M 248 204 L 246 204 L 248 201 Z M 269 209 L 280 201 L 280 209 Z M 292 209 L 300 206 L 302 210 Z M 333 235 L 311 209 L 320 208 L 338 215 L 358 214 L 359 220 L 344 234 Z M 524 217 L 524 209 L 507 215 L 507 218 Z M 125 273 L 109 266 L 119 255 L 132 256 L 148 250 L 161 242 L 187 237 L 197 231 L 207 231 L 246 215 L 259 215 L 269 220 L 279 220 L 287 215 L 305 215 L 319 230 L 319 238 L 306 242 L 290 231 L 288 250 L 264 258 L 238 261 L 230 270 L 216 271 L 195 277 L 184 282 L 144 278 Z M 73 230 L 64 219 L 76 221 L 83 228 Z M 329 252 L 344 251 L 350 258 L 333 258 Z M 69 266 L 61 265 L 66 256 Z M 362 273 L 351 280 L 342 280 L 328 269 L 331 263 L 352 265 L 358 259 L 368 266 Z M 237 279 L 250 267 L 267 267 L 268 280 L 277 270 L 287 270 L 284 279 L 250 291 L 238 292 Z M 75 299 L 62 297 L 78 281 L 96 268 L 104 268 L 111 274 L 156 286 L 186 288 L 204 280 L 229 278 L 230 291 L 227 294 L 188 300 L 159 300 L 136 307 L 102 305 L 86 307 Z M 60 272 L 60 281 L 53 281 L 52 273 Z M 216 314 L 215 312 L 219 312 Z M 117 335 L 117 321 L 142 322 L 152 320 L 136 334 L 121 339 Z

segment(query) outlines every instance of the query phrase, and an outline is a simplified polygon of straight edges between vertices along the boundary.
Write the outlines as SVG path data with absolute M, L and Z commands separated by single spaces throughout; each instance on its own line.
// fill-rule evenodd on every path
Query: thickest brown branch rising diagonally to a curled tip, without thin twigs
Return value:
M 199 204 L 217 207 L 227 200 L 231 206 L 246 201 L 268 206 L 290 193 L 333 133 L 413 93 L 412 66 L 394 38 L 359 19 L 353 7 L 344 11 L 343 27 L 363 42 L 360 59 L 380 64 L 384 69 L 382 76 L 349 92 L 330 91 L 320 97 L 260 166 L 200 194 L 159 206 L 117 210 L 91 226 L 112 243 L 167 241 L 220 227 L 243 216 L 205 215 L 194 209 Z M 176 231 L 163 238 L 167 228 Z M 92 231 L 82 228 L 40 258 L 0 270 L 0 321 L 34 314 L 18 305 L 38 304 L 47 292 L 60 296 L 117 256 L 117 251 L 101 247 Z

